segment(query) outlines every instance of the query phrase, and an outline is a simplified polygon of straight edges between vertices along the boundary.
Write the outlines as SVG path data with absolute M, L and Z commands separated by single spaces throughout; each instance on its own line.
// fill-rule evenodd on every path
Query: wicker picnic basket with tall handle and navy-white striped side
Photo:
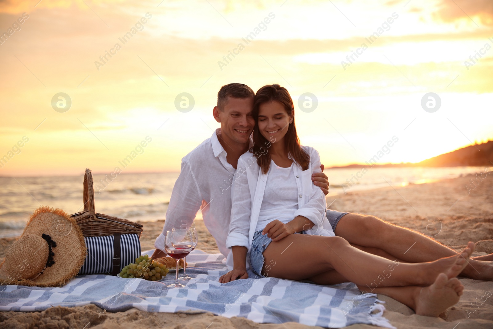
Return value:
M 118 274 L 141 255 L 142 225 L 94 210 L 94 181 L 91 170 L 84 175 L 84 210 L 70 215 L 81 228 L 86 259 L 79 274 Z

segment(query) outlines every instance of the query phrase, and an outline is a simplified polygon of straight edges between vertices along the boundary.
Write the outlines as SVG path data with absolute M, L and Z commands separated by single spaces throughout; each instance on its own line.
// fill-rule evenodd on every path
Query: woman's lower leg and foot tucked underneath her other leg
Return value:
M 464 286 L 458 278 L 448 279 L 441 273 L 429 287 L 382 287 L 369 289 L 358 286 L 362 292 L 380 293 L 412 308 L 416 314 L 437 317 L 455 305 L 463 293 Z

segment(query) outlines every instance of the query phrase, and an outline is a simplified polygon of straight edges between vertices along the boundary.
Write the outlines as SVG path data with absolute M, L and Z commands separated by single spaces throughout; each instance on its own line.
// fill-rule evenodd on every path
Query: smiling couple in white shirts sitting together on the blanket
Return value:
M 248 278 L 249 268 L 261 277 L 353 282 L 438 316 L 458 302 L 459 274 L 492 279 L 493 255 L 469 259 L 472 242 L 457 254 L 381 219 L 326 210 L 327 177 L 318 152 L 299 144 L 285 88 L 254 94 L 244 84 L 225 85 L 213 115 L 221 128 L 182 159 L 153 257 L 165 256 L 166 231 L 191 225 L 202 209 L 231 270 L 221 283 Z

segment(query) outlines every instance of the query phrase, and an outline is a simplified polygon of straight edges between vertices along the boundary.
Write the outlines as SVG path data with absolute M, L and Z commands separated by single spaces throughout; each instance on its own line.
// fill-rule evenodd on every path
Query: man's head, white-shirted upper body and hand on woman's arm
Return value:
M 226 265 L 233 267 L 228 257 L 226 239 L 231 215 L 231 184 L 238 159 L 251 147 L 250 135 L 255 126 L 251 111 L 255 93 L 241 83 L 221 87 L 213 116 L 221 128 L 183 157 L 181 172 L 171 195 L 163 232 L 157 237 L 152 257 L 166 256 L 164 249 L 166 231 L 181 225 L 192 224 L 202 208 L 204 224 L 216 240 Z M 327 176 L 314 174 L 312 181 L 328 192 Z

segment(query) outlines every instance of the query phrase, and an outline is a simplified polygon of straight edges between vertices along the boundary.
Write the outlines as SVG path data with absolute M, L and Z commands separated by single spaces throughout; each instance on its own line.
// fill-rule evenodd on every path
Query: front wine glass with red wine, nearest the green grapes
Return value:
M 170 288 L 185 287 L 178 282 L 179 260 L 186 257 L 193 248 L 192 232 L 188 229 L 175 229 L 166 232 L 164 239 L 164 251 L 168 256 L 176 259 L 176 279 L 175 283 L 169 285 Z

